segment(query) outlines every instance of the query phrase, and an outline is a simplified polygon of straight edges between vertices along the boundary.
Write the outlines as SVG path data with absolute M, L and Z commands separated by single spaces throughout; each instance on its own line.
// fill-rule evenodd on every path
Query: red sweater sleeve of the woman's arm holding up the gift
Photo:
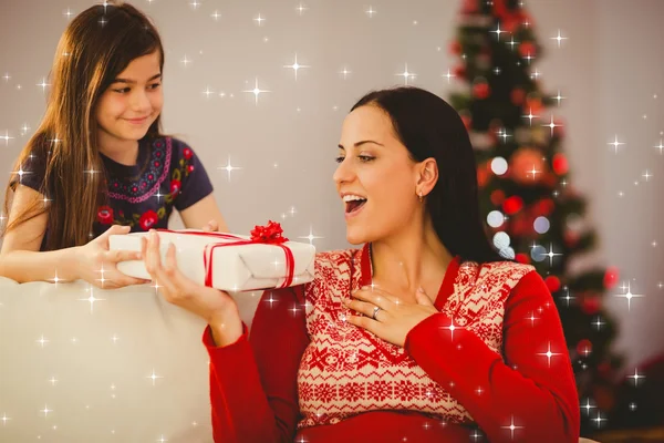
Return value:
M 292 442 L 300 418 L 298 369 L 309 336 L 303 286 L 263 292 L 251 334 L 215 347 L 209 327 L 215 442 Z

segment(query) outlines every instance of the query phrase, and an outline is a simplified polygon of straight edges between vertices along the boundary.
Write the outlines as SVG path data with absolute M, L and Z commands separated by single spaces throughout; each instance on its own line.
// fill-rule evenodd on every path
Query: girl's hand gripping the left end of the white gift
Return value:
M 115 289 L 149 282 L 149 280 L 142 278 L 125 276 L 116 268 L 116 265 L 121 261 L 141 260 L 141 253 L 108 250 L 108 237 L 117 234 L 128 234 L 129 229 L 129 226 L 113 225 L 94 240 L 74 248 L 74 275 L 76 278 L 101 289 Z

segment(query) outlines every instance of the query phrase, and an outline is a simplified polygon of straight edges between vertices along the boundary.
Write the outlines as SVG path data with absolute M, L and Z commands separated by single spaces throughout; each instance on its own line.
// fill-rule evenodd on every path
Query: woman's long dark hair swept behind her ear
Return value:
M 370 92 L 351 112 L 365 105 L 377 106 L 390 115 L 396 136 L 413 161 L 436 161 L 438 182 L 426 197 L 426 205 L 434 229 L 449 253 L 480 264 L 505 260 L 487 238 L 479 214 L 473 145 L 454 107 L 412 86 Z

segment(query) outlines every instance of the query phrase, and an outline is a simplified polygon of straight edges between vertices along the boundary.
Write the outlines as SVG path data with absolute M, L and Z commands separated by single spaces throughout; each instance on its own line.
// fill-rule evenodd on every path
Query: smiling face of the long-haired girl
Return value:
M 155 51 L 132 60 L 102 94 L 96 109 L 102 146 L 138 141 L 162 112 L 160 54 Z

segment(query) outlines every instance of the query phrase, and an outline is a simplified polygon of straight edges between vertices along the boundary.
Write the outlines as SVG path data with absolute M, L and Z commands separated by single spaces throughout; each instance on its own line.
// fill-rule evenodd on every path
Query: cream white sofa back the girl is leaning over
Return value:
M 0 442 L 211 442 L 204 329 L 149 285 L 0 277 Z

